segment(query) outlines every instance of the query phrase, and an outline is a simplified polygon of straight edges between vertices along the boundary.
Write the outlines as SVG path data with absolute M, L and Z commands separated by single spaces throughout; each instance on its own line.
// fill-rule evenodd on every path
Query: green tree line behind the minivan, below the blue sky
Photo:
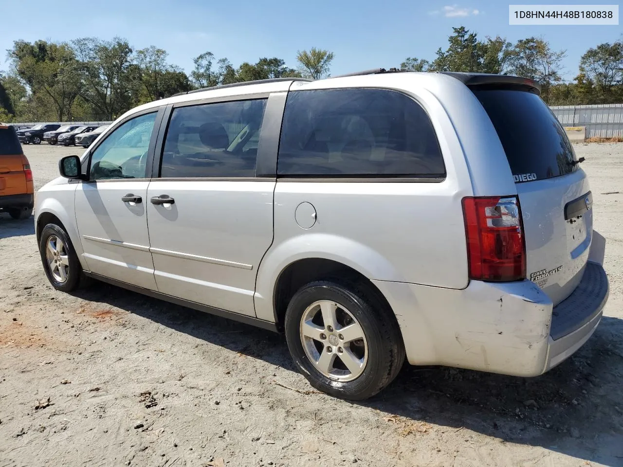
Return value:
M 130 108 L 178 92 L 267 78 L 330 76 L 329 50 L 297 52 L 289 67 L 277 57 L 235 67 L 206 51 L 190 73 L 168 62 L 166 50 L 135 50 L 127 40 L 84 37 L 71 42 L 16 40 L 7 50 L 10 69 L 0 71 L 0 121 L 112 120 Z M 512 43 L 478 38 L 453 28 L 434 59 L 408 57 L 402 70 L 503 73 L 532 78 L 549 105 L 623 102 L 623 41 L 586 50 L 573 82 L 564 82 L 566 50 L 553 50 L 542 37 Z

